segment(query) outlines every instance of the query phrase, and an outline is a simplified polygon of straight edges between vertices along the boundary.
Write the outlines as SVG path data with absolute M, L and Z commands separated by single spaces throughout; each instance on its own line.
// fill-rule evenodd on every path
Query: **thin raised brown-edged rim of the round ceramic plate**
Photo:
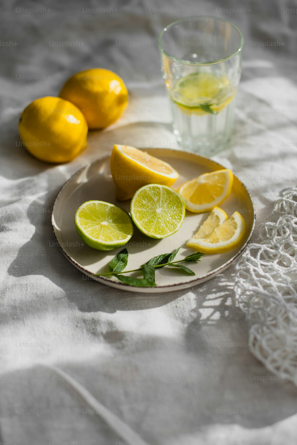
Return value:
M 200 154 L 197 153 L 193 153 L 191 151 L 188 150 L 175 150 L 172 148 L 166 148 L 166 147 L 140 147 L 140 150 L 166 150 L 167 152 L 173 152 L 173 153 L 188 153 L 194 156 L 197 156 L 198 158 L 203 158 L 206 159 L 208 162 L 211 161 L 213 162 L 213 164 L 216 164 L 219 167 L 223 167 L 226 168 L 225 166 L 223 166 L 222 164 L 220 164 L 217 161 L 214 161 L 211 158 L 206 158 L 205 156 L 202 156 Z M 56 235 L 56 227 L 54 225 L 54 211 L 55 211 L 55 206 L 58 203 L 60 194 L 63 192 L 64 188 L 67 186 L 68 182 L 72 181 L 72 178 L 77 176 L 78 174 L 80 174 L 80 172 L 82 172 L 86 167 L 91 167 L 93 164 L 96 164 L 96 162 L 98 161 L 103 161 L 104 159 L 110 158 L 111 154 L 106 154 L 105 156 L 103 156 L 102 158 L 97 158 L 95 159 L 95 161 L 89 162 L 88 164 L 84 165 L 83 167 L 81 167 L 79 170 L 77 170 L 75 173 L 73 173 L 71 175 L 71 177 L 64 182 L 64 185 L 61 187 L 59 193 L 56 196 L 56 199 L 54 201 L 54 204 L 52 206 L 52 215 L 51 215 L 51 225 L 52 225 L 52 232 L 53 235 L 56 239 L 56 242 L 58 244 L 58 246 L 60 247 L 61 251 L 63 252 L 63 254 L 66 256 L 66 258 L 68 259 L 68 261 L 70 261 L 77 269 L 79 269 L 80 271 L 82 271 L 85 275 L 88 275 L 89 277 L 91 277 L 94 281 L 97 281 L 99 283 L 102 284 L 106 284 L 107 286 L 110 287 L 116 287 L 116 288 L 125 288 L 127 291 L 134 291 L 134 292 L 146 292 L 146 293 L 158 293 L 158 292 L 165 292 L 165 291 L 171 291 L 171 290 L 180 290 L 183 288 L 187 288 L 187 287 L 193 287 L 193 286 L 197 286 L 200 283 L 203 283 L 205 281 L 207 281 L 207 279 L 211 279 L 214 276 L 218 275 L 220 273 L 220 271 L 223 271 L 225 269 L 227 269 L 229 267 L 229 265 L 231 263 L 233 263 L 242 253 L 243 251 L 246 249 L 247 245 L 249 244 L 249 241 L 253 235 L 254 229 L 255 229 L 255 225 L 256 225 L 256 209 L 255 209 L 255 205 L 253 202 L 253 198 L 251 197 L 248 188 L 245 186 L 245 183 L 242 182 L 239 178 L 237 178 L 237 176 L 235 174 L 234 177 L 237 178 L 237 180 L 242 184 L 242 186 L 244 186 L 247 194 L 249 195 L 249 198 L 251 200 L 252 203 L 252 207 L 253 207 L 253 225 L 251 228 L 251 231 L 249 233 L 248 239 L 246 240 L 246 242 L 244 243 L 244 245 L 241 247 L 241 249 L 235 254 L 233 255 L 232 258 L 230 258 L 228 261 L 226 261 L 224 264 L 222 264 L 221 266 L 217 267 L 216 269 L 214 269 L 213 271 L 197 278 L 196 280 L 191 280 L 191 281 L 185 281 L 183 283 L 173 283 L 173 284 L 166 284 L 164 286 L 162 285 L 158 285 L 154 286 L 154 287 L 135 287 L 135 286 L 131 286 L 130 284 L 127 283 L 123 283 L 121 281 L 119 282 L 115 282 L 112 281 L 111 279 L 108 279 L 104 276 L 94 276 L 92 275 L 87 269 L 85 269 L 83 266 L 81 266 L 79 263 L 77 263 L 77 261 L 75 259 L 73 259 L 64 249 L 63 245 L 60 243 L 60 241 L 57 238 Z M 116 286 L 115 286 L 116 285 Z M 159 290 L 158 290 L 159 289 Z

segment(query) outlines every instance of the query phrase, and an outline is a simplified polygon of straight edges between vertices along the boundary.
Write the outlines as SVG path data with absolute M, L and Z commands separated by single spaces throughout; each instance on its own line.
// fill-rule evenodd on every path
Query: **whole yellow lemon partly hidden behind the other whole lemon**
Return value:
M 87 69 L 70 77 L 61 89 L 60 97 L 84 113 L 89 129 L 112 124 L 128 104 L 128 91 L 122 79 L 102 68 Z

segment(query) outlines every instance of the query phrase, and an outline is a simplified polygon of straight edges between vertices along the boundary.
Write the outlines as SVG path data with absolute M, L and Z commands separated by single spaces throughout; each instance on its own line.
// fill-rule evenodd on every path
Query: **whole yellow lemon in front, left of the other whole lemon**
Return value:
M 87 146 L 88 125 L 81 111 L 60 97 L 40 97 L 20 116 L 26 149 L 46 162 L 68 162 Z

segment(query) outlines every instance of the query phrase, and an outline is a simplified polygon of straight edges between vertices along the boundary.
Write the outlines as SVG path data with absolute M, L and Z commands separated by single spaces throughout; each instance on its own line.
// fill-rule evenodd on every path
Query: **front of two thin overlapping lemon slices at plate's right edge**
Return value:
M 211 235 L 204 239 L 192 238 L 189 247 L 202 253 L 221 253 L 237 247 L 245 235 L 245 220 L 234 212 L 227 221 L 218 226 Z M 189 243 L 187 245 L 189 245 Z

